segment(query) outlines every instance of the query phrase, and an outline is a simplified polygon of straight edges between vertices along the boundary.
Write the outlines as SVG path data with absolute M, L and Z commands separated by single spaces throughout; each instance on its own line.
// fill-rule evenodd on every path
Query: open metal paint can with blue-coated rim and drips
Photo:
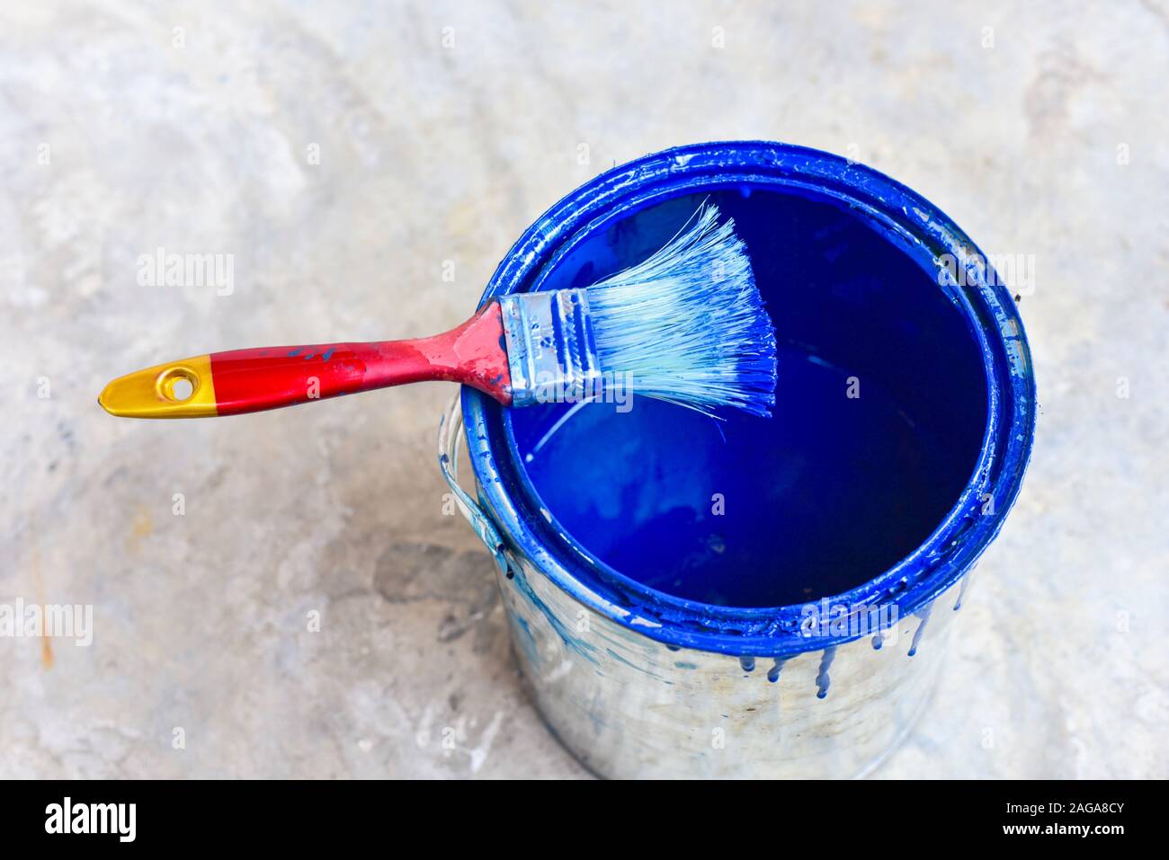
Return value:
M 734 217 L 775 320 L 775 417 L 642 398 L 507 410 L 464 389 L 440 465 L 496 561 L 537 707 L 595 774 L 860 776 L 921 715 L 1018 493 L 1026 338 L 932 203 L 762 141 L 597 176 L 528 228 L 483 300 L 595 282 L 703 200 Z

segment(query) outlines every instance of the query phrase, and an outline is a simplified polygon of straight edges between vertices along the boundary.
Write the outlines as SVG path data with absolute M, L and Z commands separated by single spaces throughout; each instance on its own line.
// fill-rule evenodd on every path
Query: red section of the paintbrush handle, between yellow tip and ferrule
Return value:
M 314 344 L 213 353 L 219 415 L 276 409 L 354 391 L 444 380 L 511 403 L 499 305 L 444 334 L 372 344 Z

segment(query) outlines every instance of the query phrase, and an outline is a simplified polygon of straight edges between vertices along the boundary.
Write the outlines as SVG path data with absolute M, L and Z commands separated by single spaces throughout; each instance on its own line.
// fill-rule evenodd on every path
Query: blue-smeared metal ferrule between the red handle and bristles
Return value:
M 512 405 L 575 403 L 594 391 L 601 362 L 583 289 L 504 296 L 499 308 Z

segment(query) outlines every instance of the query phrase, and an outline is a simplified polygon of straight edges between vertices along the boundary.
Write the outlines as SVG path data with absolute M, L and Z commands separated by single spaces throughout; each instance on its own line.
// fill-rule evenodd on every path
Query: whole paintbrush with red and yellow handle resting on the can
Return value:
M 706 415 L 775 404 L 775 331 L 734 222 L 704 204 L 660 250 L 592 286 L 504 296 L 444 334 L 199 355 L 120 376 L 133 418 L 241 415 L 445 380 L 506 407 L 631 393 Z

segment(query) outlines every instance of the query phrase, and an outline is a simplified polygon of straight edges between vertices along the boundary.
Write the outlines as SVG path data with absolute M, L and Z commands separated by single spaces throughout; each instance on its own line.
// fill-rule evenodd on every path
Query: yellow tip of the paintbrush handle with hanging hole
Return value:
M 219 415 L 210 355 L 170 361 L 119 376 L 98 404 L 119 418 L 206 418 Z

